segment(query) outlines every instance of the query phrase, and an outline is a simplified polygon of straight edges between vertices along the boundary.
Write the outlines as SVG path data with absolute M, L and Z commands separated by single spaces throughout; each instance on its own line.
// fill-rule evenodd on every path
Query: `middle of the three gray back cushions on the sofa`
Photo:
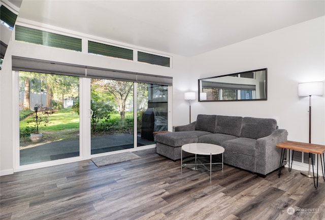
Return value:
M 229 134 L 239 137 L 242 121 L 242 117 L 217 116 L 217 124 L 214 133 Z

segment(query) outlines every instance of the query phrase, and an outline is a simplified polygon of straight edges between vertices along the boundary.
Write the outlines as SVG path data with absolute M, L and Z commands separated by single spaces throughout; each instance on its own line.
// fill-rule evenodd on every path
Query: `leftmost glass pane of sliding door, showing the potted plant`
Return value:
M 19 164 L 77 157 L 79 77 L 19 72 Z

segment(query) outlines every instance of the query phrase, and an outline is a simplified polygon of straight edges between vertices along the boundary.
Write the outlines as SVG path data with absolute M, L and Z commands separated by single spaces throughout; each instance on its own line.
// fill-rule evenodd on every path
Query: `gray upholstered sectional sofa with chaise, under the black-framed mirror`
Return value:
M 183 144 L 213 143 L 225 149 L 225 164 L 265 177 L 279 168 L 281 149 L 275 145 L 287 140 L 287 134 L 275 119 L 198 115 L 196 122 L 174 132 L 156 134 L 156 152 L 175 161 Z

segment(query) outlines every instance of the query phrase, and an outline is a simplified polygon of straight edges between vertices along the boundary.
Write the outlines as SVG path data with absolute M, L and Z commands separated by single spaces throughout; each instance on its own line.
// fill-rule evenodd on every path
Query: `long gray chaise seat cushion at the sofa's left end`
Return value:
M 197 143 L 202 135 L 211 134 L 208 131 L 178 131 L 156 134 L 155 140 L 170 146 L 182 146 L 186 143 Z

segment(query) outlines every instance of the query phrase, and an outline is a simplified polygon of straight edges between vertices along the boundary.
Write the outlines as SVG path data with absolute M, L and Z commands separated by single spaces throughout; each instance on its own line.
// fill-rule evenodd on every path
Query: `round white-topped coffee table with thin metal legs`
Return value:
M 182 146 L 181 149 L 181 172 L 183 171 L 183 151 L 195 154 L 195 164 L 191 165 L 203 165 L 205 166 L 205 163 L 197 163 L 197 155 L 210 155 L 210 181 L 212 179 L 212 164 L 221 164 L 222 170 L 223 170 L 223 152 L 224 148 L 222 146 L 212 144 L 212 143 L 187 143 Z M 218 163 L 212 163 L 212 155 L 222 154 L 222 161 Z

